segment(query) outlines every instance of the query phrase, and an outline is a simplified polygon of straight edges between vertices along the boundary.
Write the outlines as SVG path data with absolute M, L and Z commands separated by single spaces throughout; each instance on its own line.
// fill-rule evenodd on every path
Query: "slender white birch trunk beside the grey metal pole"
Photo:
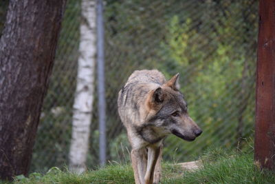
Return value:
M 86 170 L 85 162 L 89 147 L 96 63 L 96 1 L 83 0 L 81 9 L 83 20 L 80 24 L 80 57 L 69 152 L 69 168 L 76 173 Z

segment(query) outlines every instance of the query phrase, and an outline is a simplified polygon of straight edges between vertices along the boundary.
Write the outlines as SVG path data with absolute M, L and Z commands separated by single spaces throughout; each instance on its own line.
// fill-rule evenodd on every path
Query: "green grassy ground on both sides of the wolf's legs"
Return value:
M 182 171 L 170 163 L 163 165 L 162 183 L 275 183 L 275 174 L 260 171 L 252 153 L 225 152 L 215 149 L 201 157 L 203 167 L 195 172 Z M 7 182 L 1 182 L 10 184 Z M 134 183 L 131 165 L 113 163 L 104 169 L 76 175 L 53 167 L 47 174 L 17 176 L 13 183 Z

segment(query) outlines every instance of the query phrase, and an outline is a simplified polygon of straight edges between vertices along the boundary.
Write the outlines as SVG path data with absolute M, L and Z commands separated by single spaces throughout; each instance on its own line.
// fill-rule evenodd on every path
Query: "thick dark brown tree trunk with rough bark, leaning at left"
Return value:
M 10 0 L 0 40 L 0 178 L 27 174 L 66 0 Z

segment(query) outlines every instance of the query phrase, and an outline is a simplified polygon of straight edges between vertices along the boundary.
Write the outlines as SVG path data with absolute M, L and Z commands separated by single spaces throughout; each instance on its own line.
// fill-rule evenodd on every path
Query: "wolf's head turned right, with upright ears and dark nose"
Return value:
M 158 134 L 175 134 L 186 141 L 193 141 L 202 132 L 187 112 L 187 103 L 179 92 L 179 74 L 159 88 L 151 90 L 146 99 L 147 122 Z

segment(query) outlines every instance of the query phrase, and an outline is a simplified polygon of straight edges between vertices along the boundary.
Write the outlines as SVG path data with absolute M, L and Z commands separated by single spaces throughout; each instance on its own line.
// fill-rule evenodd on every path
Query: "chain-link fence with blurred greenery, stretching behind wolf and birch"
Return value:
M 164 160 L 190 161 L 213 146 L 246 146 L 254 134 L 257 8 L 254 0 L 105 1 L 108 160 L 129 159 L 116 99 L 128 76 L 140 69 L 156 68 L 167 79 L 179 72 L 189 114 L 203 129 L 190 143 L 168 136 Z M 67 1 L 32 170 L 68 164 L 80 11 L 80 0 Z M 87 161 L 91 168 L 98 165 L 96 104 L 97 98 Z

